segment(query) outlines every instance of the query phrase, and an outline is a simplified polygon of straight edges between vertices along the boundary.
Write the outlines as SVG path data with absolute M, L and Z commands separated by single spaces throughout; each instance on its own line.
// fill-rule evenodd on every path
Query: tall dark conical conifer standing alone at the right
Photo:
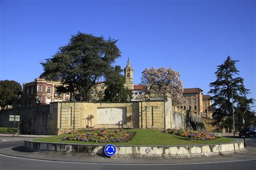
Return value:
M 213 112 L 215 121 L 212 124 L 221 128 L 230 128 L 230 130 L 233 129 L 232 93 L 236 123 L 241 121 L 238 120 L 238 108 L 244 110 L 254 101 L 252 98 L 246 98 L 250 90 L 245 88 L 244 79 L 237 77 L 239 75 L 239 70 L 235 67 L 237 62 L 238 60 L 232 60 L 227 56 L 225 62 L 217 66 L 217 72 L 215 72 L 217 80 L 210 83 L 211 89 L 208 92 L 213 94 L 210 98 L 213 101 L 210 110 Z

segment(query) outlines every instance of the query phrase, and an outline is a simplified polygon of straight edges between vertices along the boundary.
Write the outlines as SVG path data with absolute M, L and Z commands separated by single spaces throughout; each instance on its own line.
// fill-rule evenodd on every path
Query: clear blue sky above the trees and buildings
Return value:
M 230 55 L 256 98 L 256 1 L 4 1 L 0 79 L 33 81 L 39 62 L 51 58 L 78 31 L 118 39 L 134 83 L 150 67 L 171 67 L 185 88 L 207 94 L 215 71 Z

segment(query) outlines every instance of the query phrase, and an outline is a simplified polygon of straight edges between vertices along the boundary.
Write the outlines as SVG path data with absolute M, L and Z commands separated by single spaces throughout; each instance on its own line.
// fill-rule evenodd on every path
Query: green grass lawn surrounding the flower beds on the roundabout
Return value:
M 209 141 L 192 140 L 173 134 L 161 133 L 160 130 L 153 129 L 131 129 L 126 131 L 136 132 L 135 136 L 127 143 L 112 143 L 114 145 L 200 145 L 200 144 L 220 144 L 235 141 L 232 138 L 217 138 Z M 73 143 L 73 144 L 105 144 L 85 141 L 61 140 L 70 134 L 53 136 L 47 138 L 37 138 L 36 141 L 56 142 L 56 143 Z

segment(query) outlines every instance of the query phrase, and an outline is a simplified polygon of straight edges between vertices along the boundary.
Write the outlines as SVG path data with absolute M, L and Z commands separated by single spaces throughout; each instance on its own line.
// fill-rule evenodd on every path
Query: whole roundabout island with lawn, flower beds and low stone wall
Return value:
M 107 144 L 115 147 L 106 147 Z M 170 129 L 82 129 L 61 136 L 26 140 L 24 146 L 28 150 L 86 153 L 91 157 L 106 157 L 107 148 L 115 152 L 114 158 L 186 158 L 245 151 L 242 140 Z

